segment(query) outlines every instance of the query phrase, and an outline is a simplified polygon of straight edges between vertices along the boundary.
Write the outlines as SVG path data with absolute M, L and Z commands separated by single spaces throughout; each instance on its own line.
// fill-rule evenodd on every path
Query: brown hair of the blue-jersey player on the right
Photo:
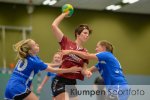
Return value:
M 99 41 L 98 44 L 101 46 L 105 46 L 106 51 L 113 53 L 113 45 L 110 42 L 108 42 L 106 40 L 102 40 L 102 41 Z

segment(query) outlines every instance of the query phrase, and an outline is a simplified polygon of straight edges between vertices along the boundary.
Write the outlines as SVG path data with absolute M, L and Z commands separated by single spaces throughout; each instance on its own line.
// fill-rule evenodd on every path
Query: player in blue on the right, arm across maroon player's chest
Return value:
M 83 53 L 74 50 L 62 50 L 63 54 L 76 54 L 84 59 L 96 59 L 98 63 L 89 68 L 89 71 L 99 71 L 110 96 L 117 96 L 118 100 L 127 100 L 128 83 L 122 72 L 121 65 L 117 58 L 113 55 L 113 46 L 110 42 L 103 40 L 96 45 L 96 54 Z M 92 74 L 89 74 L 90 77 Z M 118 94 L 118 93 L 122 94 Z

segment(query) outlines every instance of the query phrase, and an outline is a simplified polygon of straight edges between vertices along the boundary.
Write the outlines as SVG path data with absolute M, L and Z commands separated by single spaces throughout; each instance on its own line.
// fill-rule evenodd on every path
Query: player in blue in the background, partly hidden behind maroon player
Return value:
M 53 60 L 51 62 L 51 66 L 54 66 L 55 68 L 59 68 L 62 63 L 62 56 L 59 52 L 55 53 L 53 56 Z M 38 86 L 37 92 L 40 93 L 45 83 L 51 78 L 51 80 L 54 79 L 56 76 L 56 73 L 47 72 L 47 75 L 44 77 L 42 83 Z M 54 96 L 52 96 L 52 100 L 54 100 Z

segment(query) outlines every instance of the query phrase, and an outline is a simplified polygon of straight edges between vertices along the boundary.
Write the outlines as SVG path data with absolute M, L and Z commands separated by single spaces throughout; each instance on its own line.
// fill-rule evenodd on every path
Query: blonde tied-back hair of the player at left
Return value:
M 29 42 L 31 41 L 32 39 L 26 39 L 13 45 L 14 51 L 17 52 L 17 59 L 24 59 L 29 55 L 31 49 Z

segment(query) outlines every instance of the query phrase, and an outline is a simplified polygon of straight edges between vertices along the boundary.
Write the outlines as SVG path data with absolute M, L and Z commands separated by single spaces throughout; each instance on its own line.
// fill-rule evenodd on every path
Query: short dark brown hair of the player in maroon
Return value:
M 92 30 L 89 28 L 88 25 L 86 25 L 86 24 L 81 24 L 81 25 L 79 25 L 79 26 L 75 29 L 75 38 L 77 38 L 77 35 L 80 35 L 81 32 L 82 32 L 84 29 L 89 30 L 89 34 L 92 33 Z

